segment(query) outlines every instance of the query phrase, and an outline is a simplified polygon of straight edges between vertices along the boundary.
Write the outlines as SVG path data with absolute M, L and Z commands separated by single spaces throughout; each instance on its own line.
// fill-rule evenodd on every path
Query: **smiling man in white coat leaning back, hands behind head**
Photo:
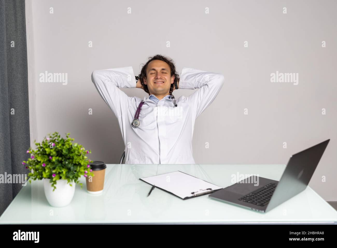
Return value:
M 95 70 L 91 79 L 118 119 L 126 164 L 195 164 L 194 122 L 219 93 L 223 74 L 183 67 L 179 78 L 173 61 L 157 54 L 143 66 L 138 81 L 131 66 Z M 135 87 L 149 94 L 143 105 L 119 89 Z M 199 89 L 175 99 L 175 88 Z

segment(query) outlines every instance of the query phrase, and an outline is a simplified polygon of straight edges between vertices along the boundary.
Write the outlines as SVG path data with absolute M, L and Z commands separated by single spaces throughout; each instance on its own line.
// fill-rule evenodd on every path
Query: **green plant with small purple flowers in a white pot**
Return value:
M 75 184 L 82 189 L 79 178 L 93 176 L 89 165 L 91 160 L 86 156 L 91 151 L 78 143 L 73 144 L 74 139 L 69 134 L 64 139 L 58 132 L 49 133 L 41 144 L 34 140 L 36 150 L 29 148 L 27 153 L 31 157 L 22 162 L 30 171 L 29 183 L 43 180 L 45 196 L 53 207 L 67 206 L 74 196 Z

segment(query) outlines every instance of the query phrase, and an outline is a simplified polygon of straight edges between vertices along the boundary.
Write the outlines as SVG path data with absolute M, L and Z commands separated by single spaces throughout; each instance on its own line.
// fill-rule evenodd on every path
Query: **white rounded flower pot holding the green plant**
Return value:
M 75 193 L 76 184 L 74 181 L 71 182 L 72 186 L 70 186 L 67 180 L 59 179 L 56 181 L 56 189 L 54 191 L 54 187 L 49 181 L 49 178 L 43 178 L 44 194 L 49 204 L 53 207 L 67 206 Z

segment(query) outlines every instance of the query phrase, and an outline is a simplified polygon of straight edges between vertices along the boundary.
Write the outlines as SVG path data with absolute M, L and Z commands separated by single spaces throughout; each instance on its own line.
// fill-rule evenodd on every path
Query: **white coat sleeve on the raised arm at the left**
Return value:
M 136 88 L 132 66 L 94 70 L 91 81 L 117 118 L 131 105 L 134 97 L 127 96 L 119 88 Z

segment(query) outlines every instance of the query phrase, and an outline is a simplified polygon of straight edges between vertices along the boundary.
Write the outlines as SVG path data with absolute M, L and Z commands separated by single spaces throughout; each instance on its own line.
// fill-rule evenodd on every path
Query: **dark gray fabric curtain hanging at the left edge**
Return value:
M 0 174 L 28 174 L 29 146 L 25 1 L 0 0 Z M 0 183 L 0 215 L 21 188 Z

